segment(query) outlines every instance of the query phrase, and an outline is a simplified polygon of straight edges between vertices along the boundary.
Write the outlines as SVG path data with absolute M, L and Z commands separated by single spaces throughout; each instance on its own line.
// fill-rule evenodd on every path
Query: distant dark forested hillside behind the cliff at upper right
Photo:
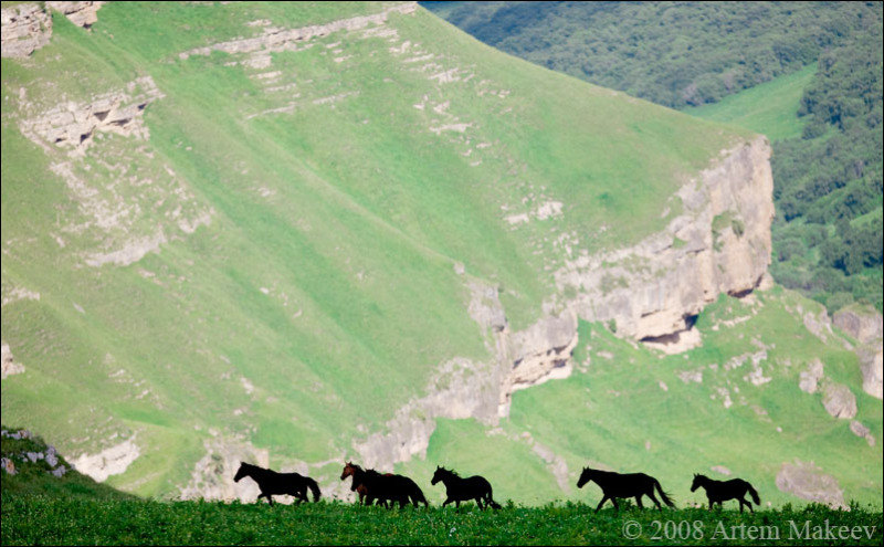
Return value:
M 422 6 L 541 66 L 767 135 L 774 277 L 830 314 L 882 311 L 881 2 Z

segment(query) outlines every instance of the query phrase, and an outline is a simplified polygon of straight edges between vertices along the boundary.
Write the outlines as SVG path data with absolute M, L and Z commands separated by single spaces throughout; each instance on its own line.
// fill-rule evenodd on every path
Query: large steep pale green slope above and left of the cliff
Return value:
M 420 9 L 198 50 L 388 7 L 110 3 L 90 31 L 54 13 L 46 48 L 2 61 L 2 330 L 24 367 L 2 382 L 6 421 L 71 455 L 130 440 L 109 483 L 139 494 L 177 493 L 213 442 L 332 477 L 322 462 L 440 364 L 488 357 L 465 280 L 530 324 L 558 234 L 636 241 L 748 137 Z M 107 125 L 108 102 L 131 116 Z

